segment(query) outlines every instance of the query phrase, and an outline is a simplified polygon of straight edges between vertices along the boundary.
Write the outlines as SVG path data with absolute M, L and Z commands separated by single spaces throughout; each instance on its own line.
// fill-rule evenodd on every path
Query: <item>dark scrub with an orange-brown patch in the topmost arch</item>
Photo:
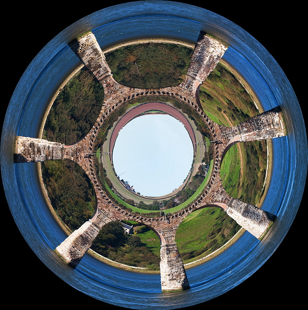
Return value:
M 113 78 L 137 88 L 175 86 L 183 81 L 192 49 L 170 43 L 142 43 L 107 53 Z

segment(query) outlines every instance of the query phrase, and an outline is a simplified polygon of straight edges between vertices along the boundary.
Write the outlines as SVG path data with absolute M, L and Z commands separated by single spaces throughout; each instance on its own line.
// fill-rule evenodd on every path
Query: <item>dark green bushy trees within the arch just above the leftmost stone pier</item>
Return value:
M 72 145 L 91 129 L 102 108 L 104 89 L 82 68 L 63 87 L 46 119 L 43 139 Z

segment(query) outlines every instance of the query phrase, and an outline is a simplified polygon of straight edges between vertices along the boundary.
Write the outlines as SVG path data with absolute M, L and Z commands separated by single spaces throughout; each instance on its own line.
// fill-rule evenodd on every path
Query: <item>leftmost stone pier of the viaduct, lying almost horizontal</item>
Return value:
M 44 139 L 16 137 L 15 162 L 44 162 L 63 158 L 64 144 Z

